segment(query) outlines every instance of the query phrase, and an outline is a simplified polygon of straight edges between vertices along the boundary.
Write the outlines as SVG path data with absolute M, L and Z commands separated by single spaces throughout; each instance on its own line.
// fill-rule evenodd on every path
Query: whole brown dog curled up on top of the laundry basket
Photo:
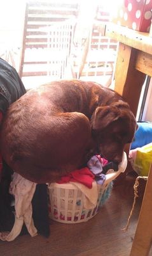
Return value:
M 11 104 L 1 153 L 26 179 L 53 182 L 95 152 L 120 163 L 135 128 L 128 104 L 113 90 L 93 82 L 55 81 Z

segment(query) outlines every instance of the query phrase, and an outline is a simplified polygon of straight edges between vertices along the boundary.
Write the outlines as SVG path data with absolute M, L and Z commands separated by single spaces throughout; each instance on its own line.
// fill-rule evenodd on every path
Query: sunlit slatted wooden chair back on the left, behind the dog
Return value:
M 20 77 L 64 77 L 77 13 L 75 3 L 27 2 Z

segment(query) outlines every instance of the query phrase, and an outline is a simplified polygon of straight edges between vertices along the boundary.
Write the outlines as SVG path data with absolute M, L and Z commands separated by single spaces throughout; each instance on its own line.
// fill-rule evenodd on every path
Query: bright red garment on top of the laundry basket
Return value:
M 79 182 L 85 185 L 88 188 L 92 188 L 92 182 L 95 178 L 95 175 L 87 168 L 82 168 L 80 170 L 75 170 L 71 173 L 68 173 L 66 176 L 61 177 L 57 182 L 59 184 L 64 184 L 67 182 Z

